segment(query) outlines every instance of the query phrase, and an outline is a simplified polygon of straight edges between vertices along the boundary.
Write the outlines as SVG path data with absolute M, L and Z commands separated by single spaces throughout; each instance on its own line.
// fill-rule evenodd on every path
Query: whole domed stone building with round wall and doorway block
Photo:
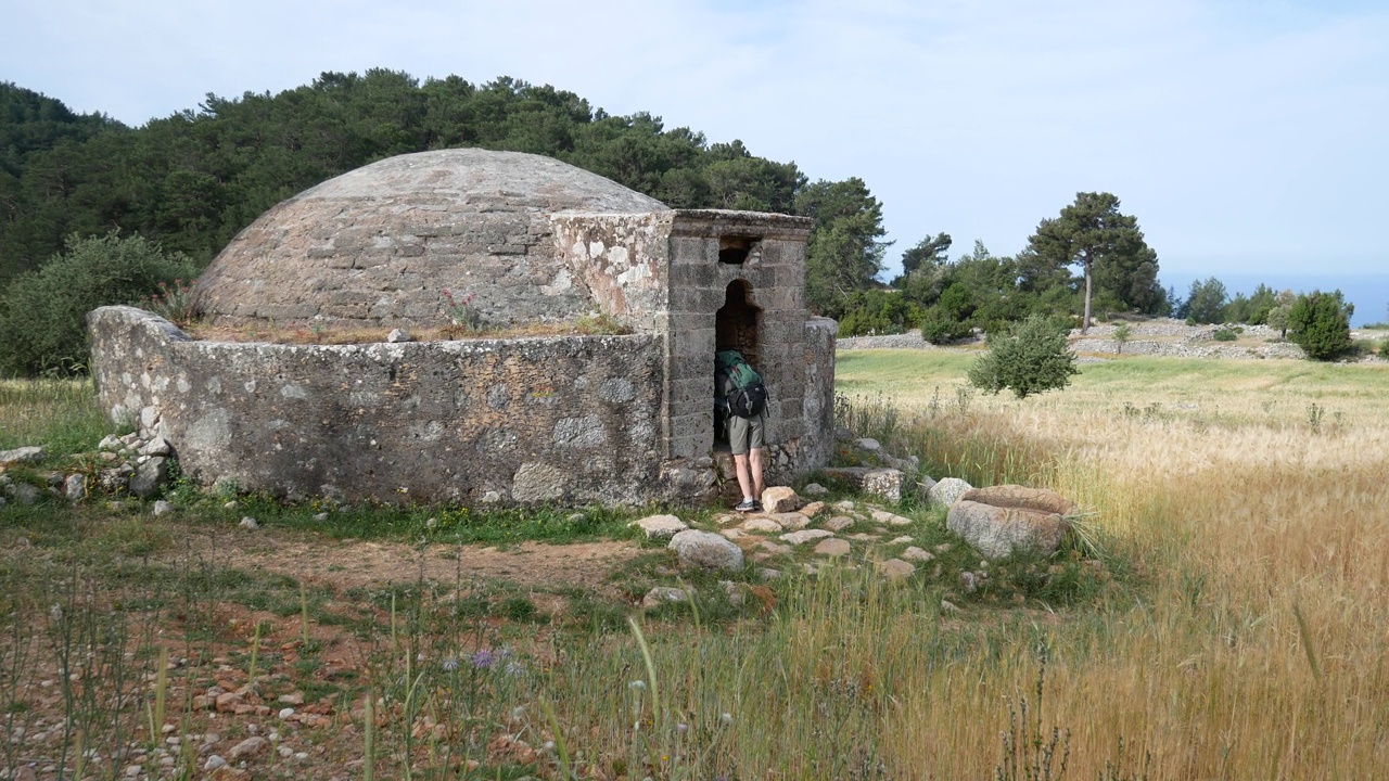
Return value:
M 201 482 L 289 496 L 533 504 L 696 500 L 725 475 L 715 349 L 771 390 L 770 472 L 829 463 L 833 321 L 806 310 L 810 221 L 671 210 L 521 153 L 442 150 L 269 210 L 194 286 L 213 322 L 483 325 L 603 314 L 629 335 L 361 345 L 190 339 L 131 307 L 89 315 L 93 374 Z

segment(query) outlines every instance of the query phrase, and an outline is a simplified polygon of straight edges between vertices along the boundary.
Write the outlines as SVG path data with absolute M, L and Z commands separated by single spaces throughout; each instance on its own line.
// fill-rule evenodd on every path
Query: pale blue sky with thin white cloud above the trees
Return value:
M 892 264 L 940 231 L 1011 254 L 1108 190 L 1164 282 L 1389 277 L 1383 3 L 0 0 L 0 79 L 132 125 L 322 71 L 510 75 L 860 176 Z

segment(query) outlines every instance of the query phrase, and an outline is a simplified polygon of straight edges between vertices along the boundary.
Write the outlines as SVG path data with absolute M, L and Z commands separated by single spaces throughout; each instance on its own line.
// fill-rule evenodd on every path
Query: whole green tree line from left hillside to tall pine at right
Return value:
M 385 157 L 465 146 L 556 157 L 676 208 L 811 217 L 808 300 L 840 321 L 842 335 L 920 327 L 949 340 L 1035 313 L 1186 309 L 1158 283 L 1157 253 L 1110 193 L 1058 204 L 1011 257 L 975 242 L 951 258 L 947 233 L 924 236 L 885 282 L 892 247 L 863 179 L 811 179 L 739 140 L 667 129 L 644 113 L 610 115 L 549 85 L 325 72 L 279 94 L 208 94 L 196 110 L 129 128 L 0 83 L 0 371 L 81 364 L 81 349 L 33 332 L 65 328 L 81 339 L 86 309 L 157 296 L 161 283 L 196 275 L 281 200 Z

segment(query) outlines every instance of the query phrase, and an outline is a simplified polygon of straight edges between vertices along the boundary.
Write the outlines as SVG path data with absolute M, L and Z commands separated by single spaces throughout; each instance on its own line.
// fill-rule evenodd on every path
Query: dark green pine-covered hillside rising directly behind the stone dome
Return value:
M 206 264 L 269 207 L 368 163 L 447 147 L 557 157 L 672 207 L 815 218 L 813 282 L 867 286 L 882 207 L 863 179 L 815 182 L 742 142 L 708 143 L 660 117 L 611 115 L 572 92 L 507 76 L 475 85 L 371 69 L 278 94 L 208 94 L 131 129 L 0 83 L 0 288 L 69 235 L 142 235 Z M 820 300 L 832 307 L 833 300 Z

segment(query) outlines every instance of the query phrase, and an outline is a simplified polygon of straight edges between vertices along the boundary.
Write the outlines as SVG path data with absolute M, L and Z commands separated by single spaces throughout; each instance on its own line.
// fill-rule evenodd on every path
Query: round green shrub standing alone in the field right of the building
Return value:
M 1065 388 L 1079 374 L 1068 331 L 1064 321 L 1033 314 L 999 336 L 989 335 L 989 352 L 970 367 L 970 384 L 989 393 L 1007 388 L 1018 399 Z

